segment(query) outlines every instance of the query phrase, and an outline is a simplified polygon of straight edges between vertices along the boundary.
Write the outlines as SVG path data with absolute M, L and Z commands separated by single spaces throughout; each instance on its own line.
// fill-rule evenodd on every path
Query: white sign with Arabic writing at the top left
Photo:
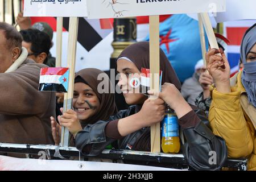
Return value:
M 24 16 L 86 17 L 86 0 L 25 0 Z

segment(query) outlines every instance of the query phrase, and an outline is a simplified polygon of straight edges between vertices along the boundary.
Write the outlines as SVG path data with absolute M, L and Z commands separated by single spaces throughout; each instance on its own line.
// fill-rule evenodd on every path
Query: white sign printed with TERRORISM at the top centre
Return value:
M 224 0 L 87 0 L 88 18 L 222 12 Z

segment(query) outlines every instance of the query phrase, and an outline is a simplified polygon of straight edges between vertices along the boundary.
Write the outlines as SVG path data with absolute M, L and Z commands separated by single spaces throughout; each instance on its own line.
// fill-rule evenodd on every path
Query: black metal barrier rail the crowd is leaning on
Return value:
M 75 147 L 0 143 L 0 152 L 30 154 L 38 157 L 40 156 L 39 154 L 42 154 L 42 151 L 46 154 L 47 159 L 53 159 L 54 156 L 58 154 L 61 154 L 63 159 L 69 157 L 81 157 L 87 160 L 89 158 L 88 156 L 82 155 Z M 59 155 L 59 158 L 61 156 Z M 102 154 L 98 155 L 96 158 L 111 159 L 113 162 L 125 160 L 125 162 L 129 164 L 145 166 L 191 169 L 182 154 L 151 153 L 131 150 L 104 150 Z M 228 159 L 224 167 L 236 168 L 238 171 L 246 171 L 246 165 L 246 158 Z

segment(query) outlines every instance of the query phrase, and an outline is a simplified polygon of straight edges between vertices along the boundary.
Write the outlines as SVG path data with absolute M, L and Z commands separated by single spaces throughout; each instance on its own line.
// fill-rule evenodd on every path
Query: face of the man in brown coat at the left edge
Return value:
M 0 30 L 0 73 L 5 73 L 14 61 L 14 53 L 8 47 L 5 32 Z

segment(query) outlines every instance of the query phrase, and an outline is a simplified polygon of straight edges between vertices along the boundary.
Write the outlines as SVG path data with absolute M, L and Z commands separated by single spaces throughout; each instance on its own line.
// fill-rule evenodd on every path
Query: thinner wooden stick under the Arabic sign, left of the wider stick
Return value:
M 56 67 L 61 67 L 63 17 L 57 17 Z

